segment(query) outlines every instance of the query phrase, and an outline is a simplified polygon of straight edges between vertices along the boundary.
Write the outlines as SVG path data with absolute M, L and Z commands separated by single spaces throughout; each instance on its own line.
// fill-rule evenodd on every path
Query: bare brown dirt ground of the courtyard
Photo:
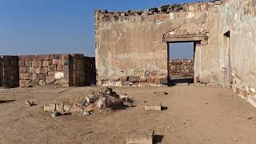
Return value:
M 220 86 L 120 87 L 134 107 L 110 114 L 57 118 L 42 106 L 62 98 L 75 98 L 95 87 L 33 87 L 0 89 L 0 143 L 122 144 L 126 134 L 154 129 L 154 143 L 256 143 L 256 108 Z M 168 94 L 156 96 L 154 91 Z M 26 101 L 37 106 L 26 107 Z M 167 110 L 146 111 L 148 103 Z

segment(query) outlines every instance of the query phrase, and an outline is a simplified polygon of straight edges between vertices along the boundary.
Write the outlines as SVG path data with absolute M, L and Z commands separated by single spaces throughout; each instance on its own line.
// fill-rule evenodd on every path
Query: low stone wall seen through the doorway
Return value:
M 194 77 L 194 61 L 189 59 L 174 59 L 169 62 L 170 77 Z

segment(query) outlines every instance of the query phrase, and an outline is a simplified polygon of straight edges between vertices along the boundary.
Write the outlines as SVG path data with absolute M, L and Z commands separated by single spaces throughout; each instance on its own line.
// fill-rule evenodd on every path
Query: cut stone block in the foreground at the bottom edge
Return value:
M 153 144 L 154 130 L 138 129 L 127 134 L 126 144 Z

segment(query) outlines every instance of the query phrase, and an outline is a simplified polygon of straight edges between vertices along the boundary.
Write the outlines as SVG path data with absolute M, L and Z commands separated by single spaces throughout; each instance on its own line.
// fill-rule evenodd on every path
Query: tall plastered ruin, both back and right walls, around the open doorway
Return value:
M 255 6 L 255 0 L 222 0 L 96 10 L 98 86 L 160 86 L 168 77 L 167 43 L 194 42 L 194 82 L 232 86 L 256 106 Z

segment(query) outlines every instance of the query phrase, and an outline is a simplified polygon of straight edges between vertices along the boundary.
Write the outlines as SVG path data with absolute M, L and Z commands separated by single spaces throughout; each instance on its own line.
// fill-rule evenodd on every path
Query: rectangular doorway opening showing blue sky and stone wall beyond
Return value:
M 194 83 L 195 42 L 167 42 L 171 85 Z

